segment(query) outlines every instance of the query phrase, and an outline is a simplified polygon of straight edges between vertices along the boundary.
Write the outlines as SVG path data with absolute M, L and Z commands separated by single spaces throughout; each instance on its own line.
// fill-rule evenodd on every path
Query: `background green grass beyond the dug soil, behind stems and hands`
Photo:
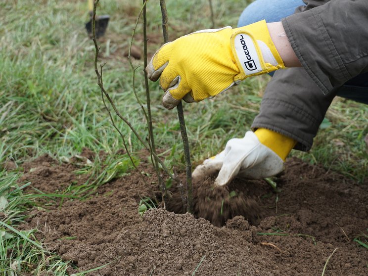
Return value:
M 192 10 L 193 1 L 188 1 L 187 5 L 180 5 L 177 12 L 169 14 L 172 29 L 173 26 L 180 26 L 179 30 L 175 30 L 176 36 L 206 28 L 211 23 L 209 17 L 202 15 L 203 12 L 210 12 L 207 1 L 199 2 L 198 10 Z M 138 3 L 103 1 L 101 13 L 115 15 L 108 29 L 108 35 L 112 38 L 109 42 L 111 57 L 106 59 L 104 81 L 119 110 L 127 115 L 144 137 L 145 125 L 131 92 L 132 72 L 126 60 L 122 62 L 121 56 L 115 58 L 122 54 L 121 48 L 128 46 L 132 32 L 129 26 L 134 24 L 133 19 L 140 6 Z M 174 4 L 168 2 L 169 12 L 174 9 Z M 61 7 L 57 1 L 49 1 L 40 8 L 37 5 L 23 7 L 21 1 L 1 5 L 5 22 L 8 23 L 6 30 L 5 26 L 0 29 L 3 35 L 1 44 L 4 45 L 0 50 L 0 102 L 3 106 L 0 131 L 4 135 L 0 142 L 0 163 L 14 160 L 21 164 L 29 157 L 45 152 L 58 158 L 72 156 L 83 147 L 108 153 L 121 148 L 121 138 L 110 126 L 95 85 L 91 64 L 92 44 L 83 29 L 84 22 L 88 20 L 84 5 L 66 2 Z M 129 7 L 128 11 L 132 14 L 119 18 L 116 15 L 125 11 L 124 5 Z M 231 11 L 237 14 L 235 11 L 239 10 L 239 3 L 234 1 L 232 8 L 227 11 L 224 4 L 215 4 L 219 26 L 236 24 L 236 18 L 230 15 Z M 41 12 L 48 17 L 36 16 Z M 18 15 L 24 16 L 27 21 L 18 20 Z M 155 33 L 161 39 L 157 29 L 160 24 L 159 7 L 150 5 L 148 16 L 148 34 Z M 183 20 L 192 18 L 199 20 Z M 179 21 L 195 23 L 183 25 Z M 58 32 L 59 26 L 63 26 L 62 32 Z M 171 30 L 173 33 L 174 30 Z M 125 38 L 126 41 L 116 37 Z M 160 44 L 160 39 L 149 45 L 151 53 Z M 141 41 L 137 41 L 137 44 L 140 46 Z M 102 43 L 102 52 L 106 45 L 106 41 Z M 136 61 L 135 66 L 138 65 L 141 66 L 141 61 Z M 138 69 L 137 79 L 141 76 L 141 70 Z M 267 76 L 249 79 L 213 100 L 184 106 L 186 114 L 190 114 L 186 117 L 194 166 L 221 150 L 229 138 L 244 135 L 257 114 L 268 79 Z M 135 85 L 143 101 L 142 82 L 136 81 Z M 173 112 L 164 110 L 160 105 L 162 92 L 157 83 L 150 83 L 150 86 L 157 146 L 175 147 L 176 154 L 171 156 L 170 161 L 181 166 L 184 156 L 178 120 Z M 228 112 L 229 106 L 232 112 Z M 321 130 L 312 151 L 295 152 L 294 155 L 363 182 L 368 171 L 368 156 L 363 141 L 367 133 L 367 114 L 367 106 L 363 104 L 337 100 L 327 114 L 331 125 Z M 123 134 L 129 138 L 131 149 L 139 149 L 140 145 L 131 131 L 123 123 L 117 122 Z M 336 146 L 336 142 L 340 145 Z

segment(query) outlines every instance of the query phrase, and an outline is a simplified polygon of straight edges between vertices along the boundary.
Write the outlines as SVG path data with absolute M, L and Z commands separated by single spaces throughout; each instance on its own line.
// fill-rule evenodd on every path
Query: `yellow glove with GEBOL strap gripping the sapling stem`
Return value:
M 232 29 L 202 30 L 163 45 L 146 72 L 165 91 L 172 109 L 181 99 L 198 102 L 228 90 L 245 78 L 284 68 L 266 21 Z

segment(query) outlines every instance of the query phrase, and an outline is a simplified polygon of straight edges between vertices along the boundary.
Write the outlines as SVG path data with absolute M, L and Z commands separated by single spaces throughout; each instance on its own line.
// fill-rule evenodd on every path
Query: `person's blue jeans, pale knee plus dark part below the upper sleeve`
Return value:
M 278 22 L 294 13 L 298 6 L 305 5 L 302 0 L 255 0 L 241 13 L 238 27 L 265 19 Z M 368 104 L 368 73 L 359 75 L 338 89 L 337 95 Z

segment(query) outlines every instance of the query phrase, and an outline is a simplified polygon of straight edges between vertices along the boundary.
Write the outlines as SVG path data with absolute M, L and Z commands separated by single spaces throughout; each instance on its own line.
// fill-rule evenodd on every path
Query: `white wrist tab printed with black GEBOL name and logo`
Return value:
M 262 71 L 256 47 L 253 40 L 246 34 L 238 34 L 234 39 L 234 46 L 241 66 L 246 75 Z

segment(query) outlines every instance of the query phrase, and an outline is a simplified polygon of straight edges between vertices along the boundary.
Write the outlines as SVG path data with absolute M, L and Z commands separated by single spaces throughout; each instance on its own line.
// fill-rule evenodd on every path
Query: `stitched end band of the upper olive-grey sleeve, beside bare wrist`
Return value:
M 320 7 L 313 8 L 283 18 L 281 22 L 300 63 L 323 94 L 327 94 L 352 76 L 337 52 L 320 12 Z

